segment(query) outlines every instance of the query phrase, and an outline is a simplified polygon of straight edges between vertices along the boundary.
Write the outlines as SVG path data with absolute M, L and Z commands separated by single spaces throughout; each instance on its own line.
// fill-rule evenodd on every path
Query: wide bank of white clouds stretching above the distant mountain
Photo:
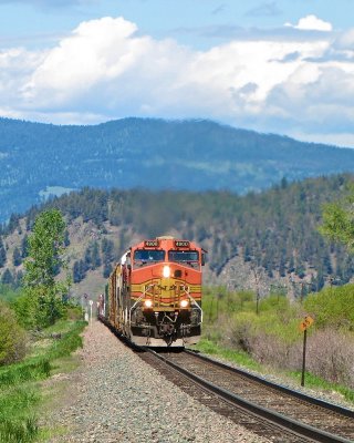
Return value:
M 61 124 L 208 117 L 323 141 L 354 132 L 352 34 L 299 33 L 192 51 L 123 18 L 83 22 L 53 49 L 0 51 L 0 113 Z

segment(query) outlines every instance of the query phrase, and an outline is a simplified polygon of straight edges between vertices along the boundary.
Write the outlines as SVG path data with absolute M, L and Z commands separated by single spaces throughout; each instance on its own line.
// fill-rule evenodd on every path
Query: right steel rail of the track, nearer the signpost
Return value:
M 300 399 L 300 400 L 302 400 L 304 402 L 314 404 L 316 406 L 321 406 L 323 409 L 326 409 L 326 410 L 332 411 L 332 412 L 336 412 L 340 415 L 348 416 L 350 419 L 354 420 L 354 411 L 352 411 L 352 410 L 350 410 L 347 408 L 340 406 L 339 404 L 330 403 L 330 402 L 326 402 L 326 401 L 321 400 L 321 399 L 316 399 L 316 398 L 308 395 L 308 394 L 305 394 L 303 392 L 287 388 L 287 387 L 282 385 L 282 384 L 277 384 L 277 383 L 274 383 L 274 382 L 272 382 L 270 380 L 266 380 L 264 378 L 262 378 L 260 375 L 254 375 L 254 374 L 252 374 L 250 372 L 243 371 L 242 369 L 230 367 L 230 365 L 228 365 L 226 363 L 221 363 L 220 361 L 210 359 L 210 358 L 208 358 L 206 356 L 200 356 L 199 353 L 197 353 L 195 351 L 191 351 L 189 349 L 185 349 L 184 352 L 186 352 L 188 354 L 191 354 L 192 357 L 198 358 L 200 360 L 204 360 L 204 361 L 206 361 L 206 362 L 208 362 L 210 364 L 219 367 L 221 369 L 229 370 L 230 372 L 235 372 L 235 373 L 237 373 L 239 375 L 246 377 L 246 378 L 248 378 L 248 379 L 250 379 L 250 380 L 252 380 L 254 382 L 258 382 L 260 384 L 263 384 L 263 385 L 266 385 L 268 388 L 272 388 L 274 390 L 278 390 L 280 392 L 283 392 L 283 393 L 292 395 L 292 396 L 294 396 L 296 399 Z

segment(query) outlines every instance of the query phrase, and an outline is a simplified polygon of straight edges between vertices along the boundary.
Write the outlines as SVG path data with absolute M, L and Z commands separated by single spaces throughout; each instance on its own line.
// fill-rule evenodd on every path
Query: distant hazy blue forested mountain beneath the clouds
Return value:
M 48 194 L 110 189 L 269 188 L 282 177 L 354 171 L 354 150 L 301 143 L 210 121 L 124 119 L 55 126 L 0 119 L 0 220 Z

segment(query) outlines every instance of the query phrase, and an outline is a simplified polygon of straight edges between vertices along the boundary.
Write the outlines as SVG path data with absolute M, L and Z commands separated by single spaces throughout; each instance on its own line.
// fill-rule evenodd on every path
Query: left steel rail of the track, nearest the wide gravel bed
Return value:
M 214 392 L 218 396 L 227 400 L 228 402 L 240 406 L 248 412 L 253 413 L 257 416 L 268 420 L 270 423 L 280 425 L 291 432 L 298 434 L 299 436 L 303 436 L 306 439 L 312 439 L 319 443 L 353 443 L 351 440 L 343 439 L 339 435 L 331 434 L 329 432 L 319 430 L 316 427 L 310 426 L 305 423 L 299 422 L 296 420 L 290 419 L 285 415 L 282 415 L 275 411 L 269 410 L 267 408 L 260 406 L 254 404 L 248 400 L 240 398 L 239 395 L 233 394 L 230 391 L 227 391 L 223 388 L 217 387 L 216 384 L 202 379 L 199 375 L 194 374 L 192 372 L 179 367 L 178 364 L 171 362 L 170 360 L 166 359 L 162 354 L 153 351 L 150 349 L 147 352 L 155 356 L 155 358 L 164 361 L 167 365 L 174 368 L 176 371 L 180 372 L 188 379 L 192 380 L 195 383 L 201 385 L 202 388 Z

